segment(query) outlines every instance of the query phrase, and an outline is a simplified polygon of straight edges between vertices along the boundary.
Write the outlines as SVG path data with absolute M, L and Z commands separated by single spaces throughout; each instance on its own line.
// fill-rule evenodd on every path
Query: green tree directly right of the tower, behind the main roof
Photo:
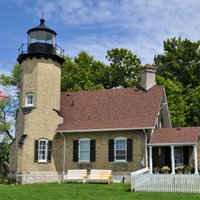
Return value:
M 81 52 L 77 57 L 65 57 L 61 68 L 61 90 L 79 91 L 104 88 L 106 66 L 95 61 L 86 52 Z

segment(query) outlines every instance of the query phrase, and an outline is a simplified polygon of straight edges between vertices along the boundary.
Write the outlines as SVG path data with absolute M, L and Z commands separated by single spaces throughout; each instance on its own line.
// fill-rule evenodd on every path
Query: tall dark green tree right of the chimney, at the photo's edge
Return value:
M 200 41 L 172 38 L 164 41 L 164 54 L 154 57 L 157 74 L 196 87 L 200 83 Z

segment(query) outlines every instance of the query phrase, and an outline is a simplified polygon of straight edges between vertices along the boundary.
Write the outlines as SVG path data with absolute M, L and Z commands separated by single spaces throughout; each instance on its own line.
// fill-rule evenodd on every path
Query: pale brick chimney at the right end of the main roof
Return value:
M 142 68 L 142 87 L 147 91 L 156 85 L 156 69 L 151 64 L 146 64 Z

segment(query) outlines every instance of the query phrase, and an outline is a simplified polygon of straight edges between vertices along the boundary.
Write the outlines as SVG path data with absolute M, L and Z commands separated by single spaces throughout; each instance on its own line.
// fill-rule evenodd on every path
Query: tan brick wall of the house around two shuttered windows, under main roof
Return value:
M 65 133 L 66 137 L 66 163 L 67 169 L 111 169 L 114 173 L 132 172 L 141 169 L 141 161 L 145 161 L 145 141 L 143 131 L 110 131 L 92 133 Z M 108 140 L 116 137 L 127 137 L 133 139 L 133 161 L 132 162 L 109 162 Z M 73 162 L 73 141 L 80 138 L 96 140 L 96 161 L 90 163 Z M 63 155 L 63 140 L 60 140 L 60 155 Z M 62 159 L 60 159 L 62 162 Z M 60 166 L 62 166 L 60 164 Z

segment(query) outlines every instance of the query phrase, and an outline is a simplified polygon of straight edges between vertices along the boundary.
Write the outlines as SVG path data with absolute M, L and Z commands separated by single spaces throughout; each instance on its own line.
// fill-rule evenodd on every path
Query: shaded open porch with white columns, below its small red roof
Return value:
M 198 172 L 197 145 L 157 146 L 149 145 L 150 173 L 163 172 L 163 167 L 168 166 L 168 173 L 194 173 Z

